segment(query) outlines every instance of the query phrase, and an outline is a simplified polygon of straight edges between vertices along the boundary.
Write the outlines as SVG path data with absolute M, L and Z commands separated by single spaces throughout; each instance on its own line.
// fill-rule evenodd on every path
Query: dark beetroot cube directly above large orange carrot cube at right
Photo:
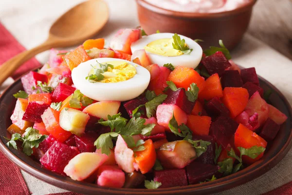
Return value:
M 222 88 L 241 87 L 243 82 L 237 70 L 226 70 L 221 78 Z

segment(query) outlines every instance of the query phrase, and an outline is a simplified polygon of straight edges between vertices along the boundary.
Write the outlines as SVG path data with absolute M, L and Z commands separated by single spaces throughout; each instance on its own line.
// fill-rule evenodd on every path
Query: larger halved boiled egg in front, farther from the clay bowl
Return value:
M 103 79 L 95 82 L 86 79 L 92 75 L 94 68 L 106 63 L 113 67 L 102 73 Z M 146 68 L 124 59 L 98 58 L 82 62 L 74 68 L 72 80 L 76 89 L 91 99 L 127 101 L 146 90 L 150 73 Z

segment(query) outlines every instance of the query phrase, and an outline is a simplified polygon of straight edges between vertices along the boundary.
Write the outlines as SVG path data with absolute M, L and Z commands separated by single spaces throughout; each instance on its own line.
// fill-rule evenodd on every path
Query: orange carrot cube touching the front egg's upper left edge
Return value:
M 64 60 L 67 63 L 68 67 L 72 71 L 73 68 L 76 68 L 80 63 L 90 60 L 91 58 L 83 49 L 83 46 L 79 46 L 74 49 L 70 54 L 64 56 Z

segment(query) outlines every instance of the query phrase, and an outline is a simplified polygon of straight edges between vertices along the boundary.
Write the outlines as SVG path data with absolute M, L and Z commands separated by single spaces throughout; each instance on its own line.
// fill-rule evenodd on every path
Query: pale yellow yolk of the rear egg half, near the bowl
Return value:
M 183 55 L 182 51 L 173 48 L 172 43 L 173 39 L 157 39 L 147 44 L 144 49 L 147 52 L 166 57 Z

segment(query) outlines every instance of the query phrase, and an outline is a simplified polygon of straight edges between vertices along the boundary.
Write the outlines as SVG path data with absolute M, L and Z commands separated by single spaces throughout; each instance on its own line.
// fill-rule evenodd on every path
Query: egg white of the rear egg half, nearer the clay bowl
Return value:
M 157 39 L 171 39 L 174 36 L 173 33 L 156 33 L 152 35 L 148 35 L 139 39 L 131 44 L 131 51 L 132 54 L 136 50 L 144 49 L 144 47 L 149 44 L 150 42 L 157 40 Z M 190 49 L 193 51 L 186 55 L 183 54 L 181 56 L 172 56 L 166 57 L 157 54 L 153 54 L 146 51 L 146 54 L 152 64 L 158 64 L 159 66 L 163 66 L 166 63 L 171 63 L 174 67 L 176 66 L 185 66 L 190 68 L 196 68 L 202 58 L 202 48 L 201 46 L 196 43 L 193 39 L 187 38 L 183 35 L 179 35 L 181 39 L 185 40 L 185 43 L 188 45 Z

